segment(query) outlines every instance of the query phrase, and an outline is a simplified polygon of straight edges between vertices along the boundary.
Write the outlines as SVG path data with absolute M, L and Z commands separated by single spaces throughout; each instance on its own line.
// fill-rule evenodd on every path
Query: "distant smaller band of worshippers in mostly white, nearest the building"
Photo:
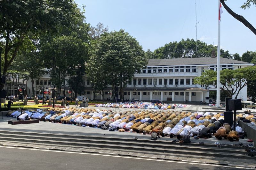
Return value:
M 165 104 L 165 103 L 150 103 L 150 102 L 132 102 L 132 103 L 107 103 L 95 104 L 95 107 L 119 107 L 119 108 L 141 108 L 141 109 L 175 109 L 176 107 L 189 107 L 191 105 L 182 104 Z

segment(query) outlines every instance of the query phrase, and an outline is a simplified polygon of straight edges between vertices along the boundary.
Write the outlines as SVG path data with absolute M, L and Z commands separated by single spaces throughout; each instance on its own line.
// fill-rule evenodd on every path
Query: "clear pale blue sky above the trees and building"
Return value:
M 226 4 L 256 27 L 256 7 L 241 9 L 246 0 L 227 0 Z M 85 7 L 86 22 L 99 22 L 109 31 L 124 29 L 135 37 L 144 50 L 155 49 L 172 41 L 197 39 L 217 44 L 218 0 L 75 0 Z M 196 4 L 195 4 L 196 3 Z M 221 15 L 220 47 L 230 54 L 242 55 L 256 50 L 256 35 L 225 9 Z

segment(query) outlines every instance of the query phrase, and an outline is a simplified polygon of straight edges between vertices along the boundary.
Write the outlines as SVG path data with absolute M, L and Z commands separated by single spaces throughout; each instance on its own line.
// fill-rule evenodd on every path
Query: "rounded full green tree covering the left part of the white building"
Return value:
M 131 80 L 134 73 L 148 63 L 139 42 L 124 30 L 102 34 L 100 40 L 92 44 L 91 53 L 101 63 L 112 91 L 115 92 L 116 87 L 120 86 L 121 100 L 126 81 Z

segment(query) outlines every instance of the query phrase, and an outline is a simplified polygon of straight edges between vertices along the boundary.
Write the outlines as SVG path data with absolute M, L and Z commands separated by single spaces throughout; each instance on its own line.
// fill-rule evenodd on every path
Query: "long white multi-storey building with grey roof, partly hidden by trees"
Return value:
M 220 70 L 252 66 L 251 63 L 237 61 L 233 59 L 220 58 Z M 216 89 L 193 84 L 193 79 L 201 76 L 204 70 L 217 70 L 217 58 L 177 58 L 177 59 L 152 59 L 140 73 L 136 73 L 132 81 L 128 82 L 124 90 L 124 99 L 139 99 L 148 101 L 159 99 L 163 101 L 206 101 L 210 91 Z M 42 76 L 37 84 L 37 94 L 40 85 L 51 84 L 49 74 Z M 84 95 L 89 99 L 93 98 L 90 79 L 85 76 L 83 79 Z M 66 84 L 66 87 L 68 84 Z M 29 94 L 32 96 L 31 83 L 28 82 Z M 65 88 L 65 90 L 68 90 Z M 111 97 L 111 85 L 104 91 L 104 98 Z M 98 100 L 102 100 L 102 92 L 96 92 Z M 81 94 L 79 94 L 81 95 Z M 238 98 L 247 99 L 247 88 L 244 87 Z

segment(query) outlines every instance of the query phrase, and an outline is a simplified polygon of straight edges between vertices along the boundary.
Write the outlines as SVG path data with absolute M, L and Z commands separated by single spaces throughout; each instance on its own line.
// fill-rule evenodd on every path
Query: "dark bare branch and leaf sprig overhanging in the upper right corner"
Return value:
M 228 5 L 225 3 L 226 0 L 220 0 L 222 6 L 228 11 L 228 13 L 236 18 L 238 21 L 242 22 L 244 24 L 244 26 L 246 26 L 247 28 L 249 28 L 255 35 L 256 35 L 256 28 L 254 28 L 252 26 L 251 23 L 249 23 L 242 15 L 238 15 L 236 14 L 234 11 L 232 11 Z M 256 0 L 247 0 L 244 5 L 241 6 L 241 8 L 246 9 L 246 8 L 250 8 L 251 7 L 251 3 L 253 5 L 256 5 Z

